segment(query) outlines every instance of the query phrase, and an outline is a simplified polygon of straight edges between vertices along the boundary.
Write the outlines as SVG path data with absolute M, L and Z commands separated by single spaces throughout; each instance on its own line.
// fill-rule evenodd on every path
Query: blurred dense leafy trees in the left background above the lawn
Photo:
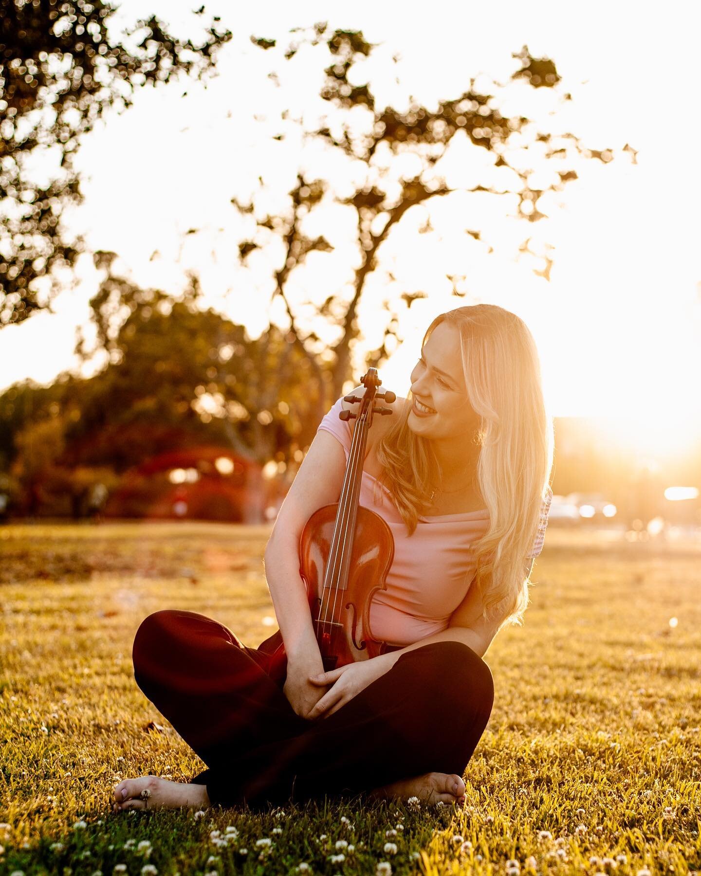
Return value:
M 0 395 L 0 448 L 21 481 L 46 481 L 49 468 L 121 474 L 205 444 L 260 464 L 300 462 L 316 399 L 305 383 L 308 361 L 280 329 L 251 341 L 201 306 L 195 279 L 175 300 L 108 272 L 91 305 L 108 357 L 102 371 Z M 87 357 L 84 342 L 79 349 Z

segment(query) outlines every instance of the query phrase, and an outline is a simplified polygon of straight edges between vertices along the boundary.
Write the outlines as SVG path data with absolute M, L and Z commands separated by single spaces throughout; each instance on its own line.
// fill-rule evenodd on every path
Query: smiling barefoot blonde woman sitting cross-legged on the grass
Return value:
M 384 653 L 324 673 L 299 574 L 301 530 L 337 500 L 350 450 L 353 420 L 338 413 L 352 406 L 338 399 L 266 547 L 286 663 L 273 661 L 274 636 L 254 649 L 194 612 L 145 618 L 135 678 L 209 769 L 190 784 L 122 781 L 115 809 L 364 791 L 463 799 L 464 767 L 492 711 L 482 657 L 503 625 L 520 622 L 542 548 L 552 424 L 533 337 L 501 307 L 438 316 L 411 381 L 393 416 L 374 419 L 360 493 L 394 538 L 388 588 L 370 613 Z

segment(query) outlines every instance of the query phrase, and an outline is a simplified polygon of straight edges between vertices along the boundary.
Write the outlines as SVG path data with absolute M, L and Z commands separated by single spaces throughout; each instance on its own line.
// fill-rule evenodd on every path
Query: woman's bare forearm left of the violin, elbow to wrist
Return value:
M 266 581 L 273 598 L 282 640 L 289 661 L 318 656 L 307 589 L 300 576 L 299 546 L 283 535 L 268 541 L 265 554 Z

